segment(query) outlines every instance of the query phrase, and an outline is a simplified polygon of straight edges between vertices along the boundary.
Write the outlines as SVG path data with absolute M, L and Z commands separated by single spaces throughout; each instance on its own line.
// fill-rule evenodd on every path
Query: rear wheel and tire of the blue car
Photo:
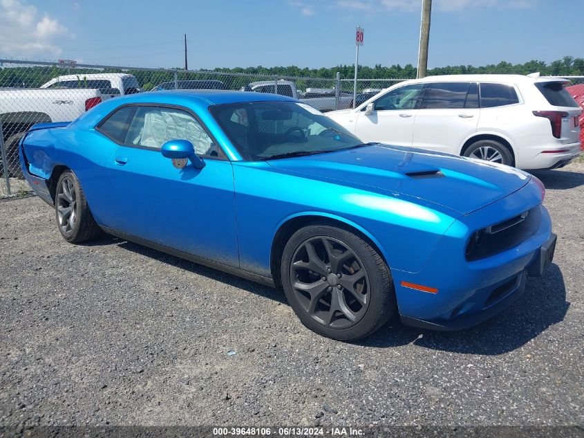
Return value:
M 101 234 L 79 180 L 70 170 L 63 172 L 57 181 L 55 218 L 61 235 L 72 244 L 95 239 Z

